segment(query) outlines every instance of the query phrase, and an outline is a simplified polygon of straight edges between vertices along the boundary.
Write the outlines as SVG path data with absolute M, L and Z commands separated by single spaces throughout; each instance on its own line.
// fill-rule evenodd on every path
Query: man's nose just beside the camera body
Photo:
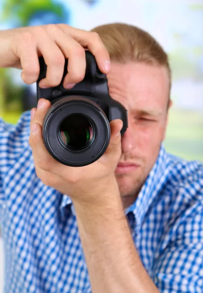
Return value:
M 128 122 L 128 127 L 121 138 L 122 153 L 129 153 L 136 147 L 136 137 L 135 129 Z

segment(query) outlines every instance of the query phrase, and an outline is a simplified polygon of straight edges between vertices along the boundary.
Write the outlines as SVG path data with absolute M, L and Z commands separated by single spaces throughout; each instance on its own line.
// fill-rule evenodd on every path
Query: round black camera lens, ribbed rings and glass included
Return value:
M 65 96 L 47 111 L 44 144 L 63 165 L 82 167 L 97 161 L 110 141 L 110 125 L 102 108 L 86 96 Z

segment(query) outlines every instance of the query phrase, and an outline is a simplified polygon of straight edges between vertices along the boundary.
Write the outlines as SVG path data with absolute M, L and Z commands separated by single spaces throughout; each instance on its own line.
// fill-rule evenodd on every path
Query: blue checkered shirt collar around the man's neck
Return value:
M 159 156 L 154 166 L 152 167 L 144 185 L 142 186 L 135 202 L 125 209 L 125 214 L 130 211 L 133 212 L 136 218 L 137 226 L 142 224 L 143 218 L 149 209 L 151 203 L 161 191 L 162 186 L 167 179 L 169 173 L 167 153 L 164 150 L 163 145 L 160 148 Z M 67 194 L 62 195 L 60 209 L 70 205 L 72 213 L 76 215 L 72 200 Z

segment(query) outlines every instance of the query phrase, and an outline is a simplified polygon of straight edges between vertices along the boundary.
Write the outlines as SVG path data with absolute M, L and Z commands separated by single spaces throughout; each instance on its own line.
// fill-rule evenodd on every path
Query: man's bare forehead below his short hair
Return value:
M 166 108 L 169 77 L 164 66 L 111 62 L 111 71 L 107 78 L 111 97 L 128 110 Z

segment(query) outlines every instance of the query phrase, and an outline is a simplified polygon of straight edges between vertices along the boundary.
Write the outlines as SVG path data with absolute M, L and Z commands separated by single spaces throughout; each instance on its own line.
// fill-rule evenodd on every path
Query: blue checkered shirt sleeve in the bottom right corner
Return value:
M 203 205 L 187 209 L 171 240 L 154 263 L 154 282 L 161 293 L 203 292 Z

